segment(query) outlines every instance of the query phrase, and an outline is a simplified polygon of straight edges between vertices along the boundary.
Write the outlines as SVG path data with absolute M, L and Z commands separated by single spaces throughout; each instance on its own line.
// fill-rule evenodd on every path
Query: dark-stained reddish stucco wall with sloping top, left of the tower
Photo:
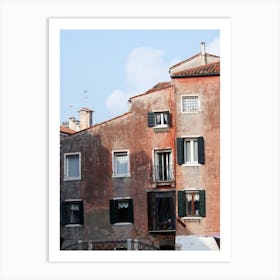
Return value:
M 156 238 L 148 233 L 147 191 L 153 190 L 152 158 L 154 148 L 172 149 L 175 163 L 175 113 L 173 87 L 131 99 L 131 111 L 111 121 L 77 133 L 62 141 L 64 153 L 81 152 L 81 180 L 63 180 L 61 162 L 61 200 L 81 198 L 84 201 L 84 226 L 62 227 L 66 239 L 117 240 Z M 147 113 L 168 110 L 171 126 L 155 131 L 147 125 Z M 128 150 L 130 177 L 112 177 L 112 151 Z M 174 186 L 164 186 L 172 188 Z M 133 199 L 134 223 L 111 225 L 109 200 L 118 197 Z

